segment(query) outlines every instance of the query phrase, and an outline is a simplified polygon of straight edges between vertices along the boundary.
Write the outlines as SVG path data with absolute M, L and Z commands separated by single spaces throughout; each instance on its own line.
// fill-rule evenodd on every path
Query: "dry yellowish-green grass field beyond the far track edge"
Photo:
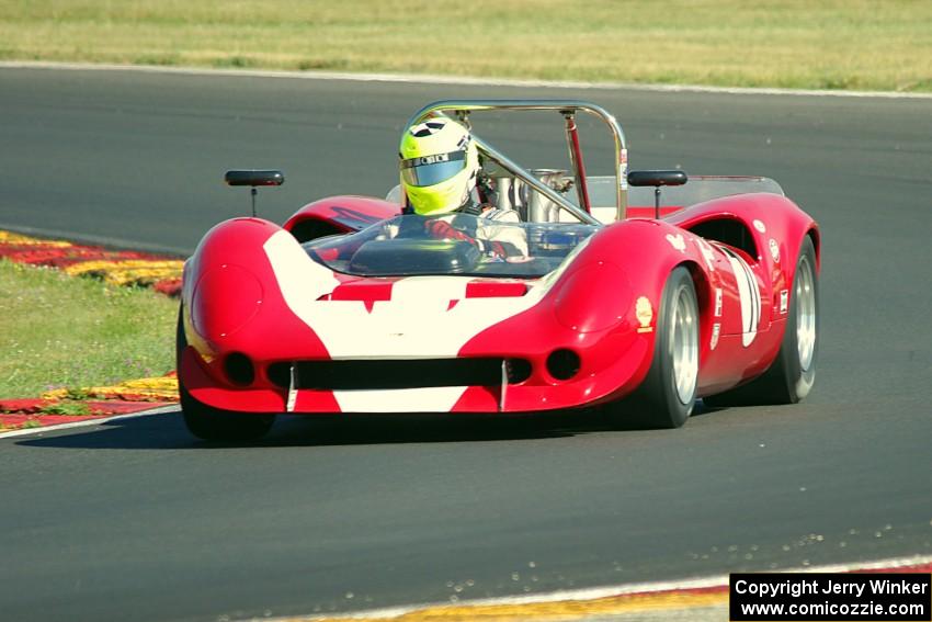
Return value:
M 0 59 L 932 91 L 932 2 L 0 0 Z

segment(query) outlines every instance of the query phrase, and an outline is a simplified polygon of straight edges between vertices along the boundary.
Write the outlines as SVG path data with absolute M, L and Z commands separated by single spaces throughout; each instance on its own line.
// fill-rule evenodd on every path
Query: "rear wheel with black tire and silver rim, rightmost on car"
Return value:
M 819 278 L 816 273 L 816 248 L 812 239 L 806 236 L 796 258 L 786 328 L 776 359 L 766 372 L 753 381 L 704 397 L 703 402 L 713 407 L 796 404 L 809 394 L 816 381 L 818 335 Z

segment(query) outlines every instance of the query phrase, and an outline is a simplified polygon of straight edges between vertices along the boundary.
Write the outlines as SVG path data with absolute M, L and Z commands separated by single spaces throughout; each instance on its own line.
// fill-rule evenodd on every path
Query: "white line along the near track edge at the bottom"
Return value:
M 787 568 L 783 570 L 772 570 L 774 573 L 851 573 L 855 570 L 879 570 L 879 569 L 896 569 L 907 566 L 919 566 L 932 564 L 932 555 L 916 555 L 912 557 L 893 557 L 889 559 L 879 559 L 875 562 L 853 562 L 849 564 L 831 564 L 826 566 L 805 566 L 802 568 Z M 495 606 L 495 604 L 537 604 L 547 602 L 560 601 L 584 601 L 595 600 L 599 598 L 607 598 L 614 596 L 625 596 L 630 593 L 651 593 L 679 590 L 693 590 L 711 587 L 719 587 L 728 585 L 728 575 L 713 575 L 709 577 L 698 577 L 692 579 L 681 579 L 673 581 L 651 581 L 643 584 L 623 584 L 616 586 L 602 586 L 595 588 L 584 588 L 576 590 L 560 590 L 546 593 L 537 593 L 531 596 L 513 596 L 487 598 L 478 600 L 462 600 L 459 602 L 424 602 L 420 604 L 411 604 L 405 607 L 390 607 L 384 609 L 370 609 L 365 611 L 355 611 L 349 613 L 340 613 L 340 618 L 351 619 L 390 619 L 419 611 L 427 608 L 440 607 L 469 607 L 469 606 Z M 333 614 L 337 615 L 337 614 Z M 326 620 L 327 615 L 308 615 L 306 618 L 298 617 L 303 620 Z M 295 617 L 272 619 L 272 622 L 283 620 L 294 620 Z

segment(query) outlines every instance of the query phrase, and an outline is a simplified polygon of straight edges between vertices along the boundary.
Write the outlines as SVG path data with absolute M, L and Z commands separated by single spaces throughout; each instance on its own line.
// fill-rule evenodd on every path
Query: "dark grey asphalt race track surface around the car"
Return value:
M 810 398 L 675 431 L 291 419 L 235 448 L 162 415 L 0 440 L 2 618 L 283 615 L 932 554 L 930 99 L 0 69 L 0 228 L 190 252 L 248 210 L 226 169 L 284 169 L 259 196 L 277 220 L 384 194 L 405 120 L 450 97 L 590 99 L 633 168 L 778 180 L 823 234 Z M 552 165 L 538 126 L 486 137 Z

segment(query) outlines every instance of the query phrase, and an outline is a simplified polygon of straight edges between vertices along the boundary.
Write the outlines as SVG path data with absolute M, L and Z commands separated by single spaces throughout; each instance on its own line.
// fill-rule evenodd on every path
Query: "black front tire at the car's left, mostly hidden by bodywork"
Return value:
M 187 346 L 184 336 L 183 307 L 178 309 L 175 333 L 175 370 L 181 369 L 181 353 Z M 253 415 L 212 408 L 197 402 L 178 375 L 178 394 L 187 430 L 205 441 L 251 441 L 263 437 L 275 422 L 274 415 Z

